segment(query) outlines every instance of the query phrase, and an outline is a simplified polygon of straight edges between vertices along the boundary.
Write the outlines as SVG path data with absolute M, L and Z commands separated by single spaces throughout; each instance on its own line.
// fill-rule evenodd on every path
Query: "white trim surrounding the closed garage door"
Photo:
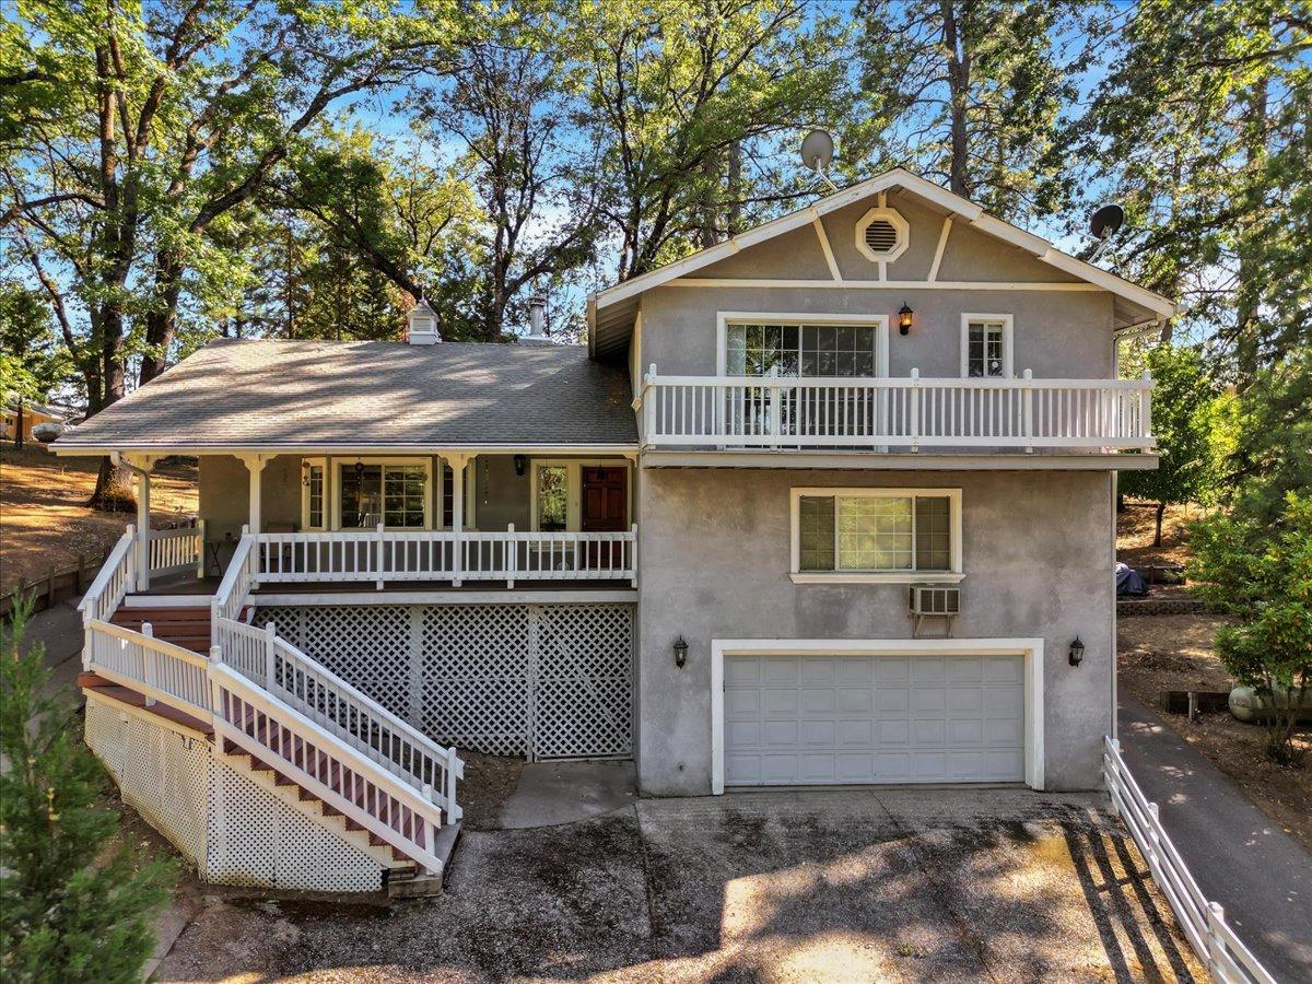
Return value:
M 724 792 L 724 659 L 732 656 L 1023 656 L 1025 785 L 1044 787 L 1042 639 L 712 639 L 711 794 Z

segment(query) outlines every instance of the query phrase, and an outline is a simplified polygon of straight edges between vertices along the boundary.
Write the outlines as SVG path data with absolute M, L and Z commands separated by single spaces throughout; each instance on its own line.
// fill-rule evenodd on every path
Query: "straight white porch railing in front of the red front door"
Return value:
M 638 527 L 617 533 L 341 530 L 261 533 L 253 579 L 315 581 L 638 583 Z M 230 567 L 231 571 L 231 567 Z

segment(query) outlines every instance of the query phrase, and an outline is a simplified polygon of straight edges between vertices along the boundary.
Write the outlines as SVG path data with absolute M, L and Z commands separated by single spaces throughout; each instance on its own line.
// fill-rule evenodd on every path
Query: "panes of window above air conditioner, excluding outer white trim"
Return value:
M 950 572 L 953 497 L 896 491 L 838 491 L 798 497 L 798 569 L 803 572 Z

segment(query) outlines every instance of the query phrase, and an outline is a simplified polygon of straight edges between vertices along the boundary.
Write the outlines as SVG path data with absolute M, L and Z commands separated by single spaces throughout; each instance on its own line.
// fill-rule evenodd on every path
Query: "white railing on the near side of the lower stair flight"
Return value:
M 429 872 L 442 870 L 436 804 L 231 666 L 211 664 L 210 682 L 216 737 L 277 768 Z

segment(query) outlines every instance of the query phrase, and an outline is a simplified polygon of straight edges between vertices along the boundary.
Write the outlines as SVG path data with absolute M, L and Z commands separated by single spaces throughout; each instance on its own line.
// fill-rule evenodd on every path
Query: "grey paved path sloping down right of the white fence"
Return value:
M 1122 694 L 1120 748 L 1198 887 L 1279 981 L 1312 981 L 1312 854 L 1161 719 Z

